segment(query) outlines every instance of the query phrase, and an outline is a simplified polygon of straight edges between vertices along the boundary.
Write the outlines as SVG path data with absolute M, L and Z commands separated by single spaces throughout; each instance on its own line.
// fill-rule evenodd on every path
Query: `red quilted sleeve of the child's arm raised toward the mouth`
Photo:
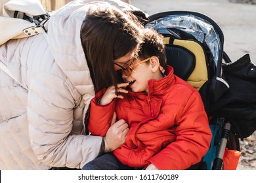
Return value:
M 114 114 L 116 100 L 108 105 L 98 105 L 98 100 L 106 90 L 96 93 L 95 98 L 91 101 L 91 111 L 88 129 L 92 135 L 104 137 Z

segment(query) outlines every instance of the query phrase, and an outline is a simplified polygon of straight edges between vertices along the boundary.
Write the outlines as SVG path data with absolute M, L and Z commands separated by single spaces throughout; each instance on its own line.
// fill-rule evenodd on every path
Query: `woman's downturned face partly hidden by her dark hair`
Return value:
M 114 64 L 115 71 L 122 69 L 121 67 L 126 67 L 126 65 L 130 65 L 130 63 L 133 62 L 135 55 L 137 54 L 138 48 L 139 44 L 137 44 L 137 46 L 135 46 L 135 48 L 125 56 L 122 56 L 118 59 L 114 59 L 114 63 L 116 63 Z M 119 67 L 118 65 L 120 65 L 121 67 Z

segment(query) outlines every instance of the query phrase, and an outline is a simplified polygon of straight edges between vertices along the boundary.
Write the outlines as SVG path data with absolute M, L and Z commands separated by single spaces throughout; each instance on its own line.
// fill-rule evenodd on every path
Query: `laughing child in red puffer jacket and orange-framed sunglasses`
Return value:
M 200 94 L 166 65 L 163 40 L 146 29 L 139 59 L 121 69 L 124 83 L 96 93 L 89 130 L 106 136 L 114 111 L 129 125 L 126 141 L 89 162 L 83 169 L 188 169 L 201 161 L 211 142 Z M 165 71 L 164 71 L 165 70 Z M 121 94 L 120 94 L 121 93 Z M 116 95 L 117 94 L 117 95 Z M 111 152 L 105 139 L 106 149 Z

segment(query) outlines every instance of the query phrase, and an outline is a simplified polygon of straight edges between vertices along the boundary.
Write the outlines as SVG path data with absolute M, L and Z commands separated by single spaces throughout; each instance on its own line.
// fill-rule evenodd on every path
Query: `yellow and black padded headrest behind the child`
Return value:
M 194 40 L 165 37 L 167 64 L 175 75 L 200 90 L 208 80 L 207 60 L 202 45 Z

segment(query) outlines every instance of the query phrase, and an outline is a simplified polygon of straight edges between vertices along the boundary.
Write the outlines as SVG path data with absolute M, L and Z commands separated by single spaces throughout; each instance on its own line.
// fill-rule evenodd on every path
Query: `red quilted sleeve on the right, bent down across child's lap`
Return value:
M 211 129 L 198 92 L 193 92 L 175 130 L 177 139 L 163 148 L 150 162 L 158 169 L 187 169 L 209 150 Z

